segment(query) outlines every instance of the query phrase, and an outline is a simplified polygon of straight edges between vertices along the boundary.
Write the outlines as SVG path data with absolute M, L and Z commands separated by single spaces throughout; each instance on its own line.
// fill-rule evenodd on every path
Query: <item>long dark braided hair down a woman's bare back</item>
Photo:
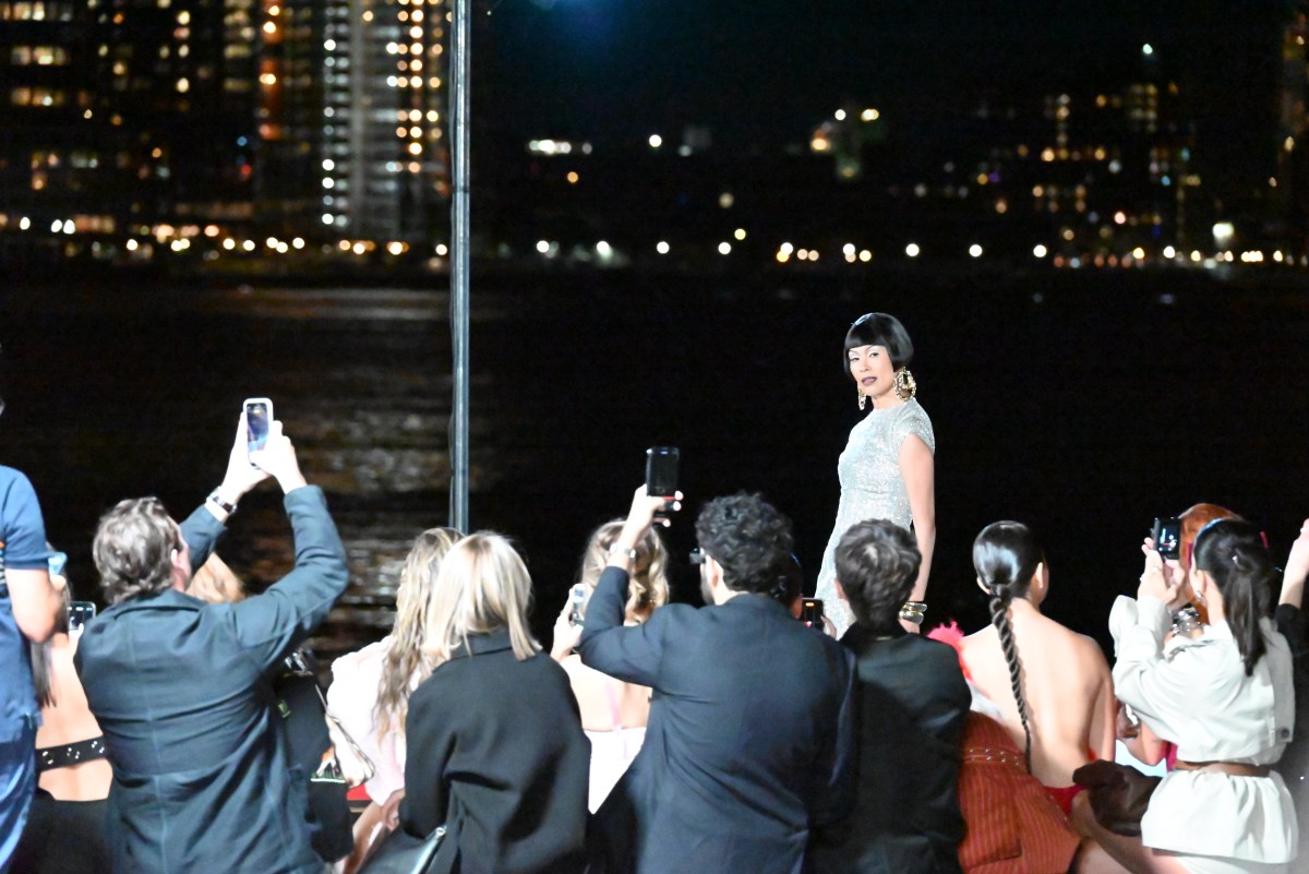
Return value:
M 1028 594 L 1031 578 L 1045 560 L 1046 555 L 1031 529 L 1022 522 L 992 522 L 982 529 L 973 542 L 973 567 L 978 582 L 991 597 L 991 624 L 1000 635 L 1004 661 L 1009 665 L 1009 686 L 1018 705 L 1018 718 L 1022 721 L 1022 734 L 1026 738 L 1022 755 L 1029 772 L 1031 771 L 1030 714 L 1028 699 L 1022 693 L 1022 661 L 1018 658 L 1018 644 L 1013 638 L 1011 606 L 1014 598 Z

